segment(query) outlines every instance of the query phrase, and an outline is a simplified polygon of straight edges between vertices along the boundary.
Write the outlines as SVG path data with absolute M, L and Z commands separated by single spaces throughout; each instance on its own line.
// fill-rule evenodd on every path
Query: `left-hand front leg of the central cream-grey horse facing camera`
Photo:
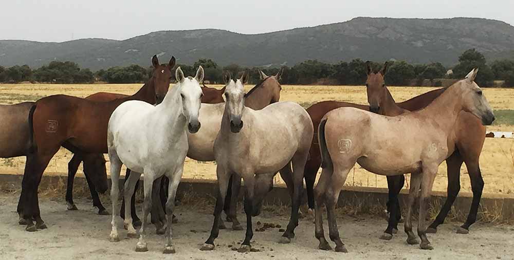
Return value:
M 212 223 L 209 238 L 207 238 L 204 245 L 200 248 L 200 250 L 203 251 L 214 249 L 214 239 L 216 239 L 219 234 L 219 221 L 221 221 L 223 204 L 225 203 L 225 197 L 227 196 L 230 175 L 218 164 L 216 166 L 216 176 L 218 179 L 218 197 L 216 198 L 216 206 L 214 207 L 214 221 Z

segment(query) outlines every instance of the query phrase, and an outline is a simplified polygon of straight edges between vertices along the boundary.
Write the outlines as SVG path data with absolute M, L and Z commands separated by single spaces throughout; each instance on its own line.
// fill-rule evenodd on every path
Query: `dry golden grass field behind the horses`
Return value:
M 85 97 L 95 92 L 117 92 L 131 95 L 142 84 L 0 84 L 0 103 L 15 104 L 23 101 L 35 101 L 41 97 L 54 94 L 67 94 Z M 221 86 L 218 86 L 221 87 Z M 249 90 L 252 86 L 247 86 Z M 304 107 L 323 100 L 339 100 L 366 104 L 366 92 L 362 86 L 292 86 L 283 85 L 281 101 L 294 101 Z M 430 87 L 389 87 L 397 102 L 423 94 L 434 88 Z M 484 88 L 484 94 L 493 109 L 514 109 L 514 89 Z M 495 125 L 488 131 L 514 131 L 512 125 Z M 71 154 L 63 148 L 50 162 L 46 174 L 66 174 L 67 162 Z M 25 158 L 2 159 L 0 172 L 22 174 Z M 514 139 L 487 138 L 480 159 L 485 182 L 485 193 L 514 193 Z M 107 169 L 108 165 L 107 165 Z M 82 170 L 80 170 L 82 171 Z M 80 172 L 82 173 L 82 172 Z M 461 191 L 471 192 L 471 185 L 466 167 L 461 169 Z M 186 159 L 185 178 L 215 178 L 214 162 L 196 162 Z M 276 180 L 281 182 L 279 177 Z M 386 178 L 360 169 L 358 165 L 351 171 L 347 185 L 369 187 L 387 187 Z M 446 191 L 446 164 L 439 167 L 434 190 Z

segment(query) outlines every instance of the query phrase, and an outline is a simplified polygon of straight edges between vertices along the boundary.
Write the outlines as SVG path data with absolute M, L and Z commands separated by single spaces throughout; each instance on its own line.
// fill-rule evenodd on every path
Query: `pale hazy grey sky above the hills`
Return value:
M 494 4 L 493 4 L 494 3 Z M 0 39 L 124 40 L 158 30 L 262 33 L 372 17 L 483 17 L 514 24 L 512 0 L 4 0 Z

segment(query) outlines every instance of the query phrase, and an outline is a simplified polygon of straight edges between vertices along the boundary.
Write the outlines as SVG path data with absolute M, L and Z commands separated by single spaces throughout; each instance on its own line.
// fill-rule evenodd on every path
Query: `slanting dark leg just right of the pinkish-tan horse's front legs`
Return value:
M 439 211 L 439 214 L 437 214 L 437 217 L 435 217 L 432 224 L 430 224 L 430 226 L 427 228 L 427 233 L 436 233 L 437 227 L 443 224 L 445 218 L 448 216 L 451 206 L 453 205 L 453 202 L 455 202 L 458 192 L 461 190 L 460 177 L 462 163 L 463 159 L 458 151 L 453 152 L 453 154 L 451 154 L 450 157 L 446 159 L 446 165 L 448 169 L 448 195 L 443 207 Z

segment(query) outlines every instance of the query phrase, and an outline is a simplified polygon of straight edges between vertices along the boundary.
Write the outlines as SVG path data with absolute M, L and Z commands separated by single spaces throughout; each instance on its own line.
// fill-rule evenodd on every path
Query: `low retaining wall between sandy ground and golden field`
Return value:
M 21 189 L 23 175 L 0 174 L 0 189 L 2 192 Z M 123 180 L 120 180 L 123 182 Z M 45 175 L 40 184 L 40 190 L 49 187 L 64 187 L 65 176 Z M 84 178 L 75 179 L 75 186 L 86 186 Z M 123 187 L 123 183 L 120 183 Z M 178 186 L 177 197 L 185 193 L 195 193 L 199 197 L 216 197 L 217 183 L 213 180 L 183 179 Z M 243 193 L 240 193 L 243 194 Z M 402 209 L 405 209 L 408 190 L 402 190 L 399 196 Z M 64 193 L 62 194 L 64 198 Z M 304 201 L 305 201 L 304 194 Z M 452 207 L 452 215 L 462 221 L 465 219 L 471 206 L 471 193 L 461 192 Z M 339 206 L 352 209 L 353 213 L 377 213 L 385 209 L 388 199 L 387 189 L 369 187 L 345 187 L 339 197 Z M 444 204 L 446 194 L 432 192 L 430 205 L 436 212 Z M 274 189 L 266 196 L 265 203 L 271 205 L 290 205 L 290 197 L 285 185 L 275 184 Z M 483 194 L 479 209 L 479 219 L 494 222 L 514 222 L 514 195 L 509 194 Z

